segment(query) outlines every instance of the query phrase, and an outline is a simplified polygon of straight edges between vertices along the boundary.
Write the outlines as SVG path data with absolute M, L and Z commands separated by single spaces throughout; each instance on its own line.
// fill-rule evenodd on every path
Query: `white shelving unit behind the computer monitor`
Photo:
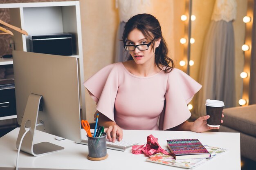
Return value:
M 86 119 L 79 1 L 10 3 L 0 4 L 0 8 L 9 8 L 11 24 L 24 29 L 29 35 L 72 33 L 72 56 L 79 61 L 81 118 Z M 17 31 L 13 34 L 15 50 L 29 51 L 28 36 Z M 0 59 L 0 65 L 6 64 L 12 64 L 12 59 Z

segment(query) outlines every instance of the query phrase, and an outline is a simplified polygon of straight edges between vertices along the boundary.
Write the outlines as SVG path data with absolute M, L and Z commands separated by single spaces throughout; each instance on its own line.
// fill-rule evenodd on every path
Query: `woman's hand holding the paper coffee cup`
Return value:
M 222 114 L 222 117 L 224 117 L 223 114 Z M 211 129 L 219 129 L 220 127 L 213 128 L 213 127 L 207 126 L 207 119 L 209 119 L 209 118 L 210 118 L 210 116 L 206 115 L 206 116 L 202 116 L 202 117 L 199 117 L 198 119 L 196 119 L 192 124 L 191 131 L 205 132 L 205 131 L 211 130 Z M 223 123 L 223 120 L 221 120 L 220 123 Z

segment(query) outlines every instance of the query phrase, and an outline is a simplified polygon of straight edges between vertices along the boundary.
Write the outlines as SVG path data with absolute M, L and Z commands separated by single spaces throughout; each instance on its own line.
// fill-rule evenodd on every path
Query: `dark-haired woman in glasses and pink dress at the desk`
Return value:
M 209 116 L 186 121 L 191 116 L 187 104 L 201 85 L 174 68 L 173 60 L 167 57 L 161 26 L 153 15 L 130 18 L 123 42 L 130 53 L 128 61 L 110 64 L 84 83 L 97 103 L 98 124 L 106 128 L 110 141 L 121 141 L 122 129 L 213 129 L 207 126 Z

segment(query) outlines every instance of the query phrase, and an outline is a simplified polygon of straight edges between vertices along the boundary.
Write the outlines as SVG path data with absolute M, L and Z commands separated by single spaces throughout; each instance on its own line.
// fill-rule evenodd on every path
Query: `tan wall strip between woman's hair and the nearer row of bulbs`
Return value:
M 179 62 L 186 55 L 184 45 L 180 44 L 180 38 L 185 32 L 185 22 L 180 20 L 181 15 L 185 13 L 185 3 L 186 0 L 152 0 L 152 9 L 149 11 L 159 20 L 163 37 L 168 45 L 168 56 L 173 59 L 175 67 L 179 69 L 183 69 Z

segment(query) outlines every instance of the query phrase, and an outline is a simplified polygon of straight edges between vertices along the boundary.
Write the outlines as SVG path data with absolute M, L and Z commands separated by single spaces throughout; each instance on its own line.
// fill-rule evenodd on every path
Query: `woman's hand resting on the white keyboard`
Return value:
M 110 125 L 106 128 L 107 139 L 109 141 L 115 142 L 116 139 L 121 141 L 123 139 L 123 130 L 116 124 Z

